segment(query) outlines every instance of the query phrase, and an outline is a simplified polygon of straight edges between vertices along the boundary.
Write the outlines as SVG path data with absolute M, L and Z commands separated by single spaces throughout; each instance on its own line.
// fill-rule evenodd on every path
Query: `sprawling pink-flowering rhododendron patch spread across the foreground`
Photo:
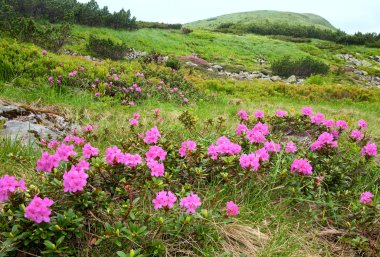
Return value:
M 162 256 L 184 238 L 203 255 L 209 240 L 223 240 L 215 222 L 249 213 L 253 187 L 274 202 L 314 203 L 321 224 L 350 229 L 348 236 L 378 233 L 378 178 L 366 180 L 378 172 L 377 145 L 364 120 L 350 127 L 310 107 L 299 114 L 240 110 L 236 130 L 197 131 L 187 112 L 189 119 L 179 119 L 192 135 L 185 137 L 159 115 L 135 113 L 126 138 L 105 149 L 96 144 L 100 129 L 85 126 L 41 144 L 34 179 L 2 176 L 4 251 L 76 255 L 79 245 L 91 251 L 112 243 L 115 252 Z

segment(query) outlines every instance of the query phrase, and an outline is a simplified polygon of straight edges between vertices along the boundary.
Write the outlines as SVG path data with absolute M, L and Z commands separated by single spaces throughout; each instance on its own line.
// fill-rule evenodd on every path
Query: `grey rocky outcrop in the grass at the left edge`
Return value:
M 0 100 L 0 135 L 23 144 L 44 138 L 58 138 L 77 128 L 63 116 L 7 104 Z

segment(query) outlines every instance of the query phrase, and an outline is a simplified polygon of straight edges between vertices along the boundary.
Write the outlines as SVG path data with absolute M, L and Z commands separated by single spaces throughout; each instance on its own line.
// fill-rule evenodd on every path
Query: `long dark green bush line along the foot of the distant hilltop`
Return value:
M 321 29 L 315 26 L 290 25 L 286 23 L 222 23 L 216 29 L 224 33 L 253 33 L 259 35 L 282 35 L 294 38 L 316 38 L 344 45 L 367 45 L 380 47 L 380 33 L 361 33 L 349 35 L 341 30 Z M 289 41 L 289 39 L 287 39 Z

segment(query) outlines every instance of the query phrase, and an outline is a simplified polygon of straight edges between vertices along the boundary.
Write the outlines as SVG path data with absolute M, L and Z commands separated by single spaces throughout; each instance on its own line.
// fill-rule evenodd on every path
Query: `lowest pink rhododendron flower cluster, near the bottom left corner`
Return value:
M 24 217 L 33 220 L 36 223 L 50 222 L 50 206 L 53 205 L 53 201 L 47 197 L 40 198 L 37 195 L 25 208 Z

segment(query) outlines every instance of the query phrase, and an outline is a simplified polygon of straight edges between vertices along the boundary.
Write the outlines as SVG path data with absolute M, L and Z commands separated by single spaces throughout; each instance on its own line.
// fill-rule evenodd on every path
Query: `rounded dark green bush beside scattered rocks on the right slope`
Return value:
M 329 71 L 329 66 L 311 57 L 292 60 L 289 56 L 285 56 L 272 63 L 272 71 L 274 74 L 283 77 L 291 75 L 308 77 L 313 74 L 326 74 Z

